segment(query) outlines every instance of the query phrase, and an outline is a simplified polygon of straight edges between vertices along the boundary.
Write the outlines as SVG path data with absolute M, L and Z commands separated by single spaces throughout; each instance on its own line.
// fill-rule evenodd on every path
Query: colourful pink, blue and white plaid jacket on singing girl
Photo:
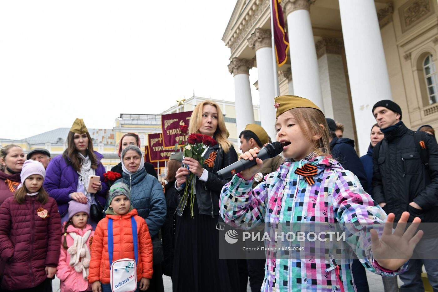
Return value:
M 310 163 L 318 167 L 309 185 L 302 176 L 295 174 L 297 167 Z M 404 271 L 383 271 L 371 253 L 369 232 L 364 225 L 384 222 L 385 212 L 360 185 L 357 177 L 331 157 L 317 156 L 311 160 L 283 163 L 276 172 L 268 174 L 265 182 L 251 189 L 248 181 L 234 175 L 222 189 L 220 214 L 234 227 L 248 229 L 254 223 L 325 222 L 341 226 L 346 231 L 346 243 L 357 254 L 362 264 L 376 274 L 395 276 Z M 360 223 L 358 225 L 358 223 Z M 348 228 L 346 226 L 355 226 Z M 349 229 L 349 230 L 344 230 Z M 352 230 L 353 229 L 353 230 Z M 345 249 L 344 249 L 345 251 Z M 335 264 L 327 255 L 326 260 L 292 258 L 279 254 L 268 260 L 261 291 L 356 291 L 351 274 L 352 260 L 348 255 L 339 265 L 340 280 Z M 341 251 L 342 253 L 342 251 Z

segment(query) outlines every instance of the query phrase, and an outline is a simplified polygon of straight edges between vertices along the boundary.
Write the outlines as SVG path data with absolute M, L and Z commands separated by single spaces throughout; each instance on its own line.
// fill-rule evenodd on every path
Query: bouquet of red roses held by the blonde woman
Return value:
M 184 133 L 181 127 L 180 127 L 180 131 Z M 187 128 L 186 128 L 186 132 L 187 132 Z M 215 139 L 213 139 L 208 135 L 192 133 L 187 138 L 187 144 L 184 145 L 183 148 L 184 157 L 191 157 L 199 161 L 199 164 L 201 164 L 202 167 L 202 165 L 205 162 L 205 158 L 202 156 L 202 153 L 204 153 L 205 149 L 207 149 L 208 146 L 215 146 L 217 143 L 218 142 Z M 196 181 L 196 176 L 193 173 L 190 173 L 189 177 L 187 178 L 186 185 L 184 187 L 184 194 L 178 206 L 181 207 L 181 210 L 184 210 L 184 207 L 187 205 L 187 200 L 190 198 L 190 214 L 192 218 L 193 218 L 195 181 Z

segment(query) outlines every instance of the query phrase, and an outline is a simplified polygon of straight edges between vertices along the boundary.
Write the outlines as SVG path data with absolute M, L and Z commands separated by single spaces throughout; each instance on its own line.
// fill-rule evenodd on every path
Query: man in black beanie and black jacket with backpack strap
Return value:
M 398 221 L 404 211 L 422 222 L 438 222 L 438 145 L 433 136 L 413 132 L 403 124 L 402 110 L 392 100 L 381 100 L 373 107 L 374 118 L 385 138 L 374 147 L 373 194 L 376 203 Z M 415 137 L 415 135 L 418 135 Z M 420 141 L 417 145 L 416 141 Z M 420 151 L 424 151 L 421 153 Z M 427 155 L 425 155 L 427 154 Z M 421 157 L 426 156 L 427 166 Z M 417 245 L 417 255 L 431 256 L 437 235 L 425 232 Z M 419 257 L 417 257 L 419 258 Z M 410 260 L 400 274 L 401 291 L 424 291 L 422 265 L 429 283 L 438 290 L 438 260 Z

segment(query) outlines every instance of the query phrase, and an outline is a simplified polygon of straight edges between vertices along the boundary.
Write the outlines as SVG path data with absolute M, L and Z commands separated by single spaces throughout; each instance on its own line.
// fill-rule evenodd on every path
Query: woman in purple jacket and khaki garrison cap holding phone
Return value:
M 67 136 L 67 149 L 53 158 L 46 169 L 44 189 L 58 203 L 61 222 L 68 221 L 68 202 L 72 199 L 91 204 L 88 223 L 93 229 L 102 219 L 108 187 L 104 181 L 103 156 L 93 151 L 93 143 L 82 119 L 76 119 Z M 90 175 L 100 176 L 93 182 L 95 192 L 87 192 Z

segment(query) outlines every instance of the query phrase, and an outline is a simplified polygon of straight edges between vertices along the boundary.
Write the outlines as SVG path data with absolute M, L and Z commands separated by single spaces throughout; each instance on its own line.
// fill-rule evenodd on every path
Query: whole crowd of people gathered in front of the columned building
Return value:
M 220 107 L 199 103 L 188 132 L 217 144 L 205 146 L 208 163 L 172 153 L 164 186 L 135 133 L 120 139 L 120 163 L 109 177 L 81 119 L 57 157 L 45 149 L 1 148 L 2 291 L 52 291 L 55 275 L 62 292 L 114 291 L 125 281 L 114 282 L 112 268 L 129 259 L 135 291 L 164 292 L 166 274 L 175 292 L 244 292 L 248 280 L 252 292 L 365 292 L 366 269 L 382 276 L 385 292 L 398 291 L 397 276 L 402 291 L 421 291 L 423 265 L 438 291 L 438 260 L 409 260 L 416 245 L 424 254 L 436 246 L 437 236 L 414 225 L 404 231 L 398 224 L 394 233 L 358 228 L 350 236 L 370 246 L 347 240 L 358 260 L 342 263 L 285 259 L 284 253 L 219 259 L 223 222 L 247 229 L 256 223 L 438 220 L 438 145 L 431 126 L 408 129 L 400 107 L 381 100 L 370 113 L 377 123 L 370 125 L 368 152 L 358 157 L 354 140 L 343 137 L 345 126 L 325 118 L 310 100 L 278 96 L 275 107 L 272 125 L 283 153 L 262 161 L 258 150 L 271 142 L 264 128 L 250 124 L 240 132 L 238 157 Z M 216 172 L 238 159 L 256 164 L 219 178 Z M 181 201 L 187 187 L 195 193 L 193 213 Z

